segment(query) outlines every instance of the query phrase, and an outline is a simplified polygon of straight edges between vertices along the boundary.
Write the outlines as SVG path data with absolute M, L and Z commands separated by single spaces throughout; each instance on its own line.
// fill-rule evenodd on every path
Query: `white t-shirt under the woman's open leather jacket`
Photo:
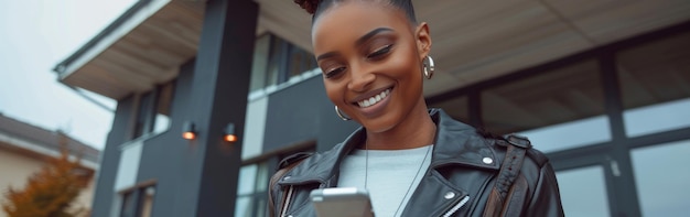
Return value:
M 366 188 L 376 216 L 400 216 L 431 164 L 432 149 L 354 150 L 341 164 L 338 187 Z

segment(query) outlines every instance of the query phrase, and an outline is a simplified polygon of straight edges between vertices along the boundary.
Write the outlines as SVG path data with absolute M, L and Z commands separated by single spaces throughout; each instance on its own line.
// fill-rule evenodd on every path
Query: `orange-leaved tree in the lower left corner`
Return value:
M 10 217 L 72 217 L 87 213 L 71 207 L 72 202 L 87 187 L 93 172 L 69 160 L 67 137 L 58 132 L 61 155 L 50 159 L 41 171 L 31 175 L 23 189 L 9 188 L 2 209 Z

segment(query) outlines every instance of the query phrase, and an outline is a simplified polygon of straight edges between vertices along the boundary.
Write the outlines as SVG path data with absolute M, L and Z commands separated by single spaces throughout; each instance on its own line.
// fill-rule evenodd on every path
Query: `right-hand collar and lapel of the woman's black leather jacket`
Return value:
M 439 129 L 432 162 L 427 175 L 408 202 L 402 216 L 442 216 L 454 206 L 462 204 L 465 197 L 476 196 L 476 193 L 470 193 L 457 183 L 445 180 L 439 172 L 441 167 L 459 166 L 488 171 L 499 169 L 496 153 L 489 147 L 492 144 L 475 133 L 474 128 L 453 120 L 438 109 L 432 109 L 430 115 Z M 485 158 L 492 159 L 490 163 L 486 163 L 488 160 Z M 488 176 L 471 176 L 467 177 L 467 182 L 482 182 L 476 178 L 488 178 Z M 470 206 L 470 203 L 464 206 Z

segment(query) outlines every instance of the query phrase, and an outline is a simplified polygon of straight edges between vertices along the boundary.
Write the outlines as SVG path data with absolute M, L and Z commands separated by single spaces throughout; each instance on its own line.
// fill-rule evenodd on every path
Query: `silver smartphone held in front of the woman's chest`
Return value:
M 319 217 L 374 217 L 366 189 L 332 187 L 313 189 L 310 194 Z

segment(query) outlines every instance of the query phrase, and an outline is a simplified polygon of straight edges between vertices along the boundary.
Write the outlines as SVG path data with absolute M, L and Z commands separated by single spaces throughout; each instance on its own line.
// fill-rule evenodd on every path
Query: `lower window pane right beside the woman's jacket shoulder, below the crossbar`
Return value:
M 565 216 L 611 216 L 601 165 L 556 172 Z

